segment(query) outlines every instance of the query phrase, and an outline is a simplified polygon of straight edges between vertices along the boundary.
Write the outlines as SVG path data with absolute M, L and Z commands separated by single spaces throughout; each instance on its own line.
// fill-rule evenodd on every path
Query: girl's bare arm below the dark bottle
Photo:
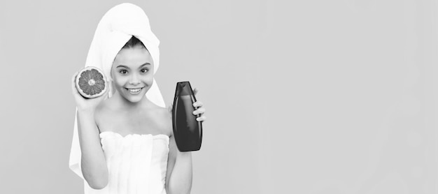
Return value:
M 188 194 L 192 189 L 192 152 L 181 152 L 172 134 L 167 161 L 166 191 L 168 194 Z

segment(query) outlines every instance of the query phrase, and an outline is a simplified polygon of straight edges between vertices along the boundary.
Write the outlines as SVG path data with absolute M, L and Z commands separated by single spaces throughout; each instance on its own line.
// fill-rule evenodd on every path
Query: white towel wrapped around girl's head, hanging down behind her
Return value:
M 85 66 L 100 68 L 104 71 L 107 79 L 111 81 L 111 66 L 115 56 L 132 36 L 139 38 L 143 45 L 146 46 L 153 59 L 155 74 L 160 66 L 160 50 L 158 49 L 160 40 L 150 30 L 149 19 L 146 13 L 139 6 L 132 3 L 122 3 L 114 6 L 102 17 L 94 33 Z M 111 98 L 114 89 L 111 84 L 109 85 L 108 97 Z M 155 79 L 146 93 L 146 97 L 156 105 L 165 107 L 162 94 Z M 79 177 L 83 178 L 80 168 L 80 156 L 78 126 L 75 116 L 69 167 Z M 87 184 L 85 185 L 87 186 Z

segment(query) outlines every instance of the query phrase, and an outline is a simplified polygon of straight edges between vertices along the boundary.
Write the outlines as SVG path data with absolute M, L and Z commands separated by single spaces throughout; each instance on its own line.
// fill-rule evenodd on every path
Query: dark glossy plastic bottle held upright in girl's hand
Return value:
M 172 124 L 174 137 L 179 151 L 197 151 L 201 149 L 202 123 L 197 121 L 198 115 L 193 115 L 196 102 L 190 82 L 176 83 L 174 107 L 172 109 Z

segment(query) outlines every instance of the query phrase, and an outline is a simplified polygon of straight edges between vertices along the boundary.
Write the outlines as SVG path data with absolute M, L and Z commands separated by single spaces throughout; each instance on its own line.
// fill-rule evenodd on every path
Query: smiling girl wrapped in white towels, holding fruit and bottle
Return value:
M 72 77 L 77 114 L 69 167 L 83 178 L 85 194 L 190 193 L 192 156 L 178 151 L 171 111 L 153 78 L 159 43 L 143 10 L 122 3 L 102 17 L 85 64 L 104 71 L 106 93 L 83 98 L 78 73 Z M 193 106 L 197 121 L 205 121 L 202 103 Z

